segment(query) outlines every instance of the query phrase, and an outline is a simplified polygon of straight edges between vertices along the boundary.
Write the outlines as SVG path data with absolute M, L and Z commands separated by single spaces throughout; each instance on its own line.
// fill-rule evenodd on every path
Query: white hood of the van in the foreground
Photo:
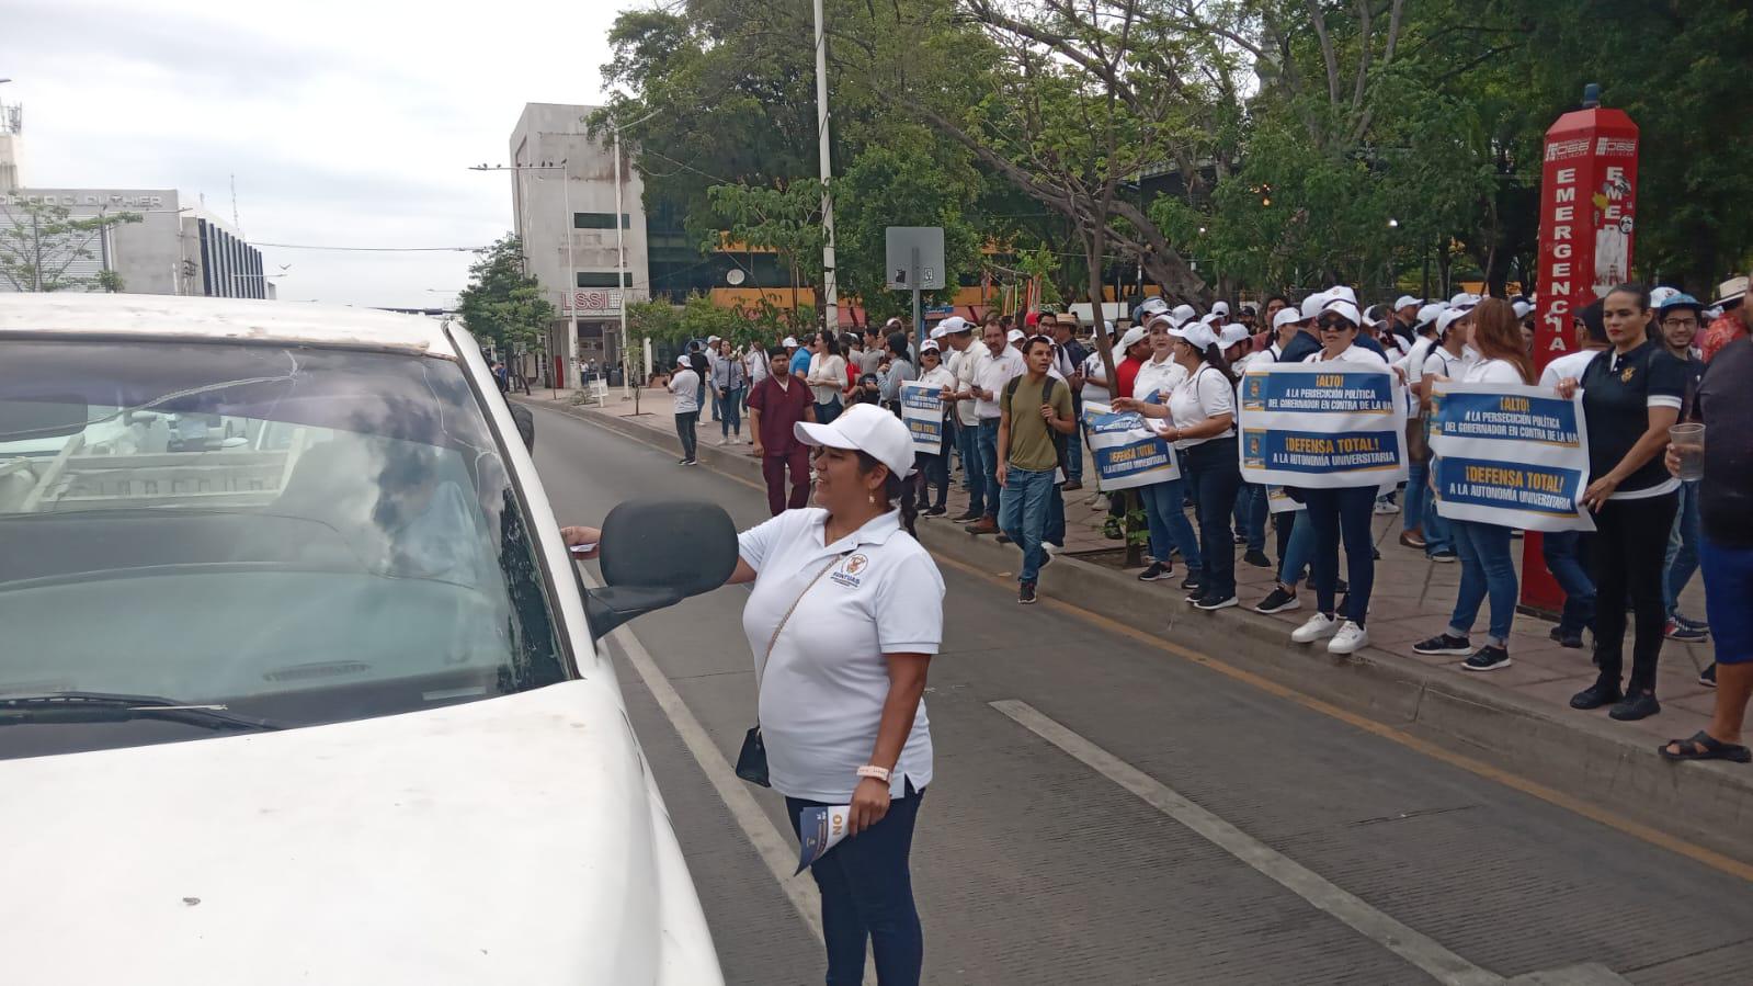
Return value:
M 643 770 L 608 681 L 0 761 L 5 979 L 654 982 Z

